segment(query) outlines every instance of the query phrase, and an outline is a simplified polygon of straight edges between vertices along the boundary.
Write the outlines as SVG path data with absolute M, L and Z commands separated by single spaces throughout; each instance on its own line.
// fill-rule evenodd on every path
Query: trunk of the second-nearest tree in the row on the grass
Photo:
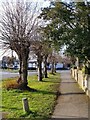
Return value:
M 42 81 L 42 58 L 38 56 L 38 81 Z

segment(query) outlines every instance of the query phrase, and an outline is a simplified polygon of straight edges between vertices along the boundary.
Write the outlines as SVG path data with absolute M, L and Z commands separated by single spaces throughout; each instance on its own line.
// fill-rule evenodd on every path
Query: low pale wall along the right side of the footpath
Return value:
M 90 75 L 83 74 L 81 70 L 77 69 L 71 69 L 71 75 L 90 97 Z

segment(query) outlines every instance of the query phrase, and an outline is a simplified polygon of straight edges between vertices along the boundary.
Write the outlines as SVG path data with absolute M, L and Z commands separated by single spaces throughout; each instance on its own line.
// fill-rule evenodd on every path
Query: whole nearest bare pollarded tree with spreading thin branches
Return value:
M 28 84 L 27 67 L 31 41 L 34 41 L 34 34 L 38 29 L 37 5 L 24 0 L 4 2 L 0 21 L 0 42 L 3 48 L 17 53 L 20 60 L 20 79 L 24 88 L 27 88 Z

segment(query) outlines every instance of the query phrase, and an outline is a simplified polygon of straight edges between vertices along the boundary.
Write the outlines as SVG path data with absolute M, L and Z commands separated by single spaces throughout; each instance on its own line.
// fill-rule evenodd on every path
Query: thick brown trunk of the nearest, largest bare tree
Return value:
M 17 83 L 21 84 L 21 89 L 27 89 L 28 85 L 28 55 L 29 55 L 29 49 L 23 49 L 23 53 L 19 54 L 19 60 L 20 60 L 20 70 L 19 70 L 19 79 L 17 80 Z

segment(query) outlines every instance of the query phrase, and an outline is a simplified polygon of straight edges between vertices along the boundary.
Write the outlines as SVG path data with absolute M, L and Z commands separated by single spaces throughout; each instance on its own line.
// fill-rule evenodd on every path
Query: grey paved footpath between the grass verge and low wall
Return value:
M 60 74 L 59 91 L 61 95 L 57 99 L 52 118 L 82 118 L 82 120 L 88 118 L 88 97 L 77 82 L 71 78 L 70 71 L 61 71 Z

